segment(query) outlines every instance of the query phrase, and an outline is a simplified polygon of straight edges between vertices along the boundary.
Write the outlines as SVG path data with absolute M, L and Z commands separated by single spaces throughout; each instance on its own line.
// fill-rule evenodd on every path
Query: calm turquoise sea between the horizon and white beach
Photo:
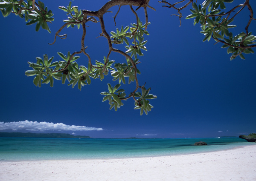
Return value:
M 197 141 L 207 146 L 193 146 Z M 211 152 L 255 145 L 241 138 L 74 139 L 0 138 L 0 161 L 111 159 Z

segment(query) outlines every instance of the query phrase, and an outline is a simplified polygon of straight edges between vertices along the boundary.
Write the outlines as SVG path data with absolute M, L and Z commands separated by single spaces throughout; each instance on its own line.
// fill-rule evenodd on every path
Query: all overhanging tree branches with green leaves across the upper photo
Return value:
M 181 2 L 183 2 L 183 0 Z M 160 3 L 171 5 L 169 8 L 175 8 L 178 10 L 178 14 L 180 14 L 179 17 L 181 18 L 182 16 L 180 10 L 186 8 L 186 6 L 192 1 L 188 0 L 188 3 L 185 6 L 176 8 L 175 6 L 181 2 L 175 3 L 173 5 L 167 1 L 161 1 Z M 224 45 L 222 48 L 227 48 L 227 53 L 232 54 L 230 60 L 236 58 L 237 56 L 241 57 L 241 59 L 245 59 L 244 54 L 254 53 L 251 48 L 255 47 L 254 45 L 256 44 L 256 36 L 247 30 L 248 26 L 250 25 L 250 21 L 254 19 L 252 17 L 253 12 L 250 10 L 248 3 L 241 4 L 231 9 L 230 11 L 225 12 L 224 9 L 226 9 L 226 3 L 232 2 L 233 0 L 205 0 L 202 4 L 199 5 L 194 2 L 192 3 L 193 9 L 190 10 L 192 14 L 187 16 L 186 19 L 195 18 L 194 26 L 197 23 L 201 24 L 201 33 L 205 36 L 203 41 L 209 41 L 212 38 L 216 42 L 223 43 Z M 118 3 L 118 1 L 111 1 L 111 3 Z M 121 7 L 121 5 L 119 6 Z M 240 12 L 240 10 L 233 16 L 230 16 L 230 14 L 233 13 L 233 11 L 237 8 L 243 9 L 245 6 L 248 6 L 248 9 L 251 13 L 250 21 L 245 28 L 246 32 L 241 32 L 240 34 L 233 36 L 233 33 L 230 32 L 230 29 L 236 27 L 236 25 L 232 25 L 231 23 L 236 15 Z M 103 7 L 106 8 L 108 6 Z M 103 7 L 102 9 L 104 9 Z M 138 9 L 140 9 L 140 7 Z M 111 84 L 108 83 L 108 92 L 101 93 L 102 95 L 105 95 L 103 101 L 109 101 L 110 109 L 114 107 L 115 110 L 117 110 L 120 108 L 120 106 L 123 105 L 122 101 L 127 100 L 128 98 L 133 98 L 135 101 L 134 109 L 140 109 L 140 115 L 142 115 L 143 112 L 148 114 L 148 111 L 151 111 L 151 108 L 153 108 L 153 106 L 149 104 L 149 100 L 157 98 L 157 96 L 149 94 L 149 91 L 151 90 L 150 88 L 145 89 L 144 86 L 139 86 L 137 79 L 137 74 L 140 74 L 140 71 L 137 68 L 137 64 L 140 63 L 139 56 L 143 56 L 142 50 L 147 51 L 145 47 L 147 40 L 144 40 L 144 35 L 149 35 L 149 33 L 146 31 L 146 27 L 150 23 L 147 23 L 148 17 L 146 9 L 144 11 L 147 24 L 143 24 L 141 22 L 139 17 L 137 17 L 136 12 L 134 12 L 131 7 L 131 10 L 136 15 L 137 23 L 132 23 L 131 26 L 125 26 L 125 28 L 121 26 L 120 30 L 117 28 L 116 32 L 111 31 L 111 36 L 109 36 L 109 34 L 106 32 L 103 22 L 103 14 L 109 12 L 107 9 L 103 14 L 102 12 L 98 13 L 98 11 L 81 11 L 77 6 L 72 6 L 71 1 L 67 7 L 60 6 L 59 9 L 63 10 L 68 17 L 67 20 L 63 20 L 64 26 L 61 26 L 59 31 L 55 34 L 55 40 L 57 36 L 66 36 L 65 34 L 58 34 L 65 27 L 68 28 L 71 26 L 73 28 L 77 26 L 79 29 L 80 26 L 88 27 L 86 25 L 87 21 L 92 21 L 94 23 L 100 21 L 102 31 L 100 36 L 105 37 L 108 40 L 110 50 L 108 56 L 104 57 L 102 62 L 95 60 L 95 64 L 93 65 L 90 56 L 87 54 L 87 52 L 85 52 L 87 47 L 84 46 L 84 37 L 86 35 L 84 28 L 82 29 L 83 34 L 81 38 L 81 50 L 79 52 L 74 52 L 72 54 L 68 52 L 67 55 L 58 52 L 61 60 L 53 63 L 53 57 L 48 58 L 47 55 L 44 55 L 44 58 L 36 57 L 36 63 L 28 62 L 29 67 L 31 67 L 32 70 L 26 71 L 25 75 L 35 76 L 33 80 L 35 86 L 41 87 L 42 83 L 50 83 L 50 86 L 52 87 L 55 79 L 61 80 L 63 84 L 67 82 L 67 85 L 72 85 L 72 88 L 77 85 L 78 89 L 81 90 L 82 86 L 91 83 L 91 78 L 99 78 L 100 80 L 103 80 L 105 75 L 108 75 L 108 73 L 111 72 L 113 81 L 118 80 L 119 84 L 116 84 L 114 87 L 112 87 Z M 36 31 L 39 31 L 40 27 L 42 27 L 48 32 L 51 32 L 47 23 L 51 23 L 54 20 L 52 17 L 52 11 L 48 10 L 44 3 L 39 0 L 37 0 L 37 2 L 34 0 L 26 0 L 26 2 L 25 0 L 0 0 L 0 11 L 4 17 L 14 13 L 21 18 L 25 18 L 25 21 L 27 22 L 26 25 L 36 24 Z M 96 18 L 99 18 L 99 21 L 97 21 Z M 120 46 L 120 44 L 123 43 L 126 44 L 126 52 L 122 52 L 121 50 L 114 49 L 112 47 Z M 125 63 L 115 63 L 114 60 L 110 60 L 109 56 L 111 52 L 118 52 L 123 55 L 126 60 Z M 88 57 L 87 67 L 81 66 L 76 62 L 79 59 L 79 56 L 76 55 L 81 53 L 84 53 L 84 55 Z M 128 97 L 125 97 L 125 90 L 119 89 L 119 87 L 121 86 L 120 83 L 122 82 L 125 84 L 127 79 L 129 84 L 135 82 L 136 88 L 128 95 Z M 141 92 L 137 92 L 139 88 L 141 89 Z

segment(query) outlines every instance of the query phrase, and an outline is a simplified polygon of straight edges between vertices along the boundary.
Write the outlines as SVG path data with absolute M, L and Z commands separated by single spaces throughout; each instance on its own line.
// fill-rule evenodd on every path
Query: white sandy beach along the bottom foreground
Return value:
M 256 145 L 150 158 L 0 162 L 0 181 L 256 181 Z

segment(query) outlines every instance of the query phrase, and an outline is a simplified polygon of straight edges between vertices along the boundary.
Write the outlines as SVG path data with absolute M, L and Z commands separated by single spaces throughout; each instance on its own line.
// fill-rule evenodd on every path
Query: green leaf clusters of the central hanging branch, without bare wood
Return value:
M 64 20 L 64 22 L 68 23 L 67 27 L 77 25 L 78 28 L 80 24 L 82 24 L 81 20 L 83 19 L 83 14 L 81 10 L 78 11 L 77 6 L 72 6 L 71 2 L 66 7 L 61 6 L 59 9 L 67 12 L 67 15 L 71 15 L 68 17 L 68 20 Z M 73 14 L 75 13 L 75 14 Z M 150 23 L 148 23 L 150 24 Z M 128 32 L 129 30 L 129 32 Z M 113 77 L 113 81 L 119 80 L 119 84 L 112 87 L 110 83 L 108 83 L 108 92 L 102 92 L 102 95 L 105 95 L 103 101 L 108 100 L 110 104 L 110 109 L 113 107 L 117 111 L 120 106 L 123 105 L 122 100 L 126 100 L 125 98 L 125 90 L 119 89 L 122 83 L 126 83 L 125 78 L 128 78 L 128 83 L 134 82 L 136 80 L 136 74 L 140 74 L 140 70 L 135 68 L 134 65 L 137 65 L 139 62 L 138 55 L 142 56 L 143 53 L 141 49 L 147 50 L 145 47 L 143 35 L 149 35 L 149 33 L 145 30 L 145 24 L 143 24 L 140 19 L 138 19 L 138 25 L 136 23 L 131 24 L 130 26 L 121 27 L 121 31 L 116 29 L 116 32 L 111 32 L 111 41 L 113 44 L 122 44 L 126 43 L 125 46 L 128 51 L 125 53 L 131 53 L 131 57 L 135 57 L 133 59 L 126 58 L 126 63 L 114 63 L 114 60 L 110 60 L 107 57 L 104 57 L 103 62 L 95 60 L 95 65 L 88 63 L 88 66 L 79 66 L 76 62 L 79 56 L 71 55 L 70 52 L 67 53 L 67 56 L 61 52 L 58 52 L 58 55 L 64 60 L 54 63 L 48 63 L 48 61 L 43 61 L 41 58 L 37 57 L 37 63 L 30 63 L 29 66 L 33 68 L 33 70 L 26 71 L 27 76 L 35 76 L 34 84 L 36 86 L 41 86 L 41 83 L 49 83 L 53 86 L 53 78 L 57 80 L 61 80 L 64 84 L 66 81 L 68 85 L 72 85 L 74 88 L 78 85 L 78 89 L 81 90 L 81 87 L 91 83 L 91 78 L 96 79 L 99 78 L 103 80 L 105 75 L 108 75 L 108 72 L 111 71 L 111 76 Z M 47 55 L 44 55 L 44 58 L 47 58 Z M 53 57 L 50 59 L 52 60 Z M 108 59 L 108 60 L 107 60 Z M 48 59 L 47 59 L 48 60 Z M 131 62 L 132 61 L 132 62 Z M 52 68 L 49 68 L 52 67 Z M 144 90 L 142 88 L 142 94 L 140 92 L 135 92 L 130 97 L 138 97 L 135 104 L 137 105 L 135 109 L 141 108 L 141 115 L 143 114 L 143 110 L 146 114 L 151 110 L 153 106 L 149 104 L 148 99 L 156 98 L 156 96 L 148 95 L 149 89 Z

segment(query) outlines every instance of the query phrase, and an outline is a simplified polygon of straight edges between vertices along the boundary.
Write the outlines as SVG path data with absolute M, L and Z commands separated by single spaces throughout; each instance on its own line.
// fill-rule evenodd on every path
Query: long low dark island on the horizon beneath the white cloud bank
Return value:
M 22 138 L 90 138 L 90 136 L 75 136 L 66 133 L 32 133 L 32 132 L 0 132 L 0 137 Z

